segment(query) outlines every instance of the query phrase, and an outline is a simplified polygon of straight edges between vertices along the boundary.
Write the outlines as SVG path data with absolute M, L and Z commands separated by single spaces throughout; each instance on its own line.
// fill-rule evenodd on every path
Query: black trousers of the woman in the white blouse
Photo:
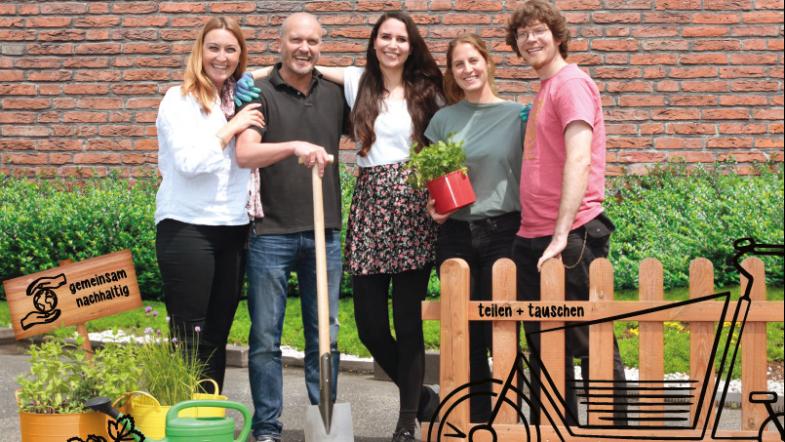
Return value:
M 198 347 L 205 377 L 219 387 L 240 301 L 247 237 L 247 225 L 200 226 L 165 219 L 156 226 L 155 251 L 170 330 L 187 348 Z

